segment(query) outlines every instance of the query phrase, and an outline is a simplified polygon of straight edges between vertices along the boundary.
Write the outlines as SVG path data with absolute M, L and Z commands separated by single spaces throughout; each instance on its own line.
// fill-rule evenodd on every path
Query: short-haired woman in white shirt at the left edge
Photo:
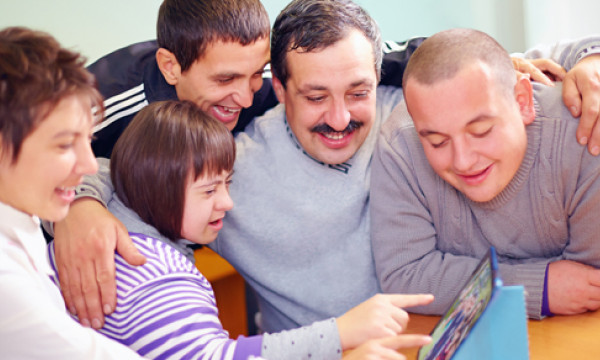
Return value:
M 97 163 L 102 98 L 79 54 L 26 28 L 0 31 L 0 358 L 138 359 L 66 312 L 40 218 L 64 218 Z M 32 346 L 35 344 L 35 346 Z

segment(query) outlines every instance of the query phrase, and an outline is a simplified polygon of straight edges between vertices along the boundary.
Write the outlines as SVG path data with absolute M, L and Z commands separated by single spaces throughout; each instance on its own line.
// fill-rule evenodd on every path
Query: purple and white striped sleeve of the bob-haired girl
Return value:
M 131 234 L 131 239 L 146 263 L 133 267 L 115 256 L 117 308 L 105 318 L 101 333 L 149 359 L 260 355 L 262 336 L 229 338 L 212 287 L 195 264 L 152 237 Z

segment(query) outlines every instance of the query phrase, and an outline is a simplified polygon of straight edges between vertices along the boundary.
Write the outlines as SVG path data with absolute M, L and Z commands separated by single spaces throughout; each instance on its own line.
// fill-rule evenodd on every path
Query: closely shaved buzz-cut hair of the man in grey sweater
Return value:
M 512 94 L 516 76 L 510 55 L 491 36 L 473 29 L 449 29 L 426 39 L 411 55 L 402 88 L 414 78 L 424 85 L 453 78 L 474 61 L 490 66 L 501 88 Z

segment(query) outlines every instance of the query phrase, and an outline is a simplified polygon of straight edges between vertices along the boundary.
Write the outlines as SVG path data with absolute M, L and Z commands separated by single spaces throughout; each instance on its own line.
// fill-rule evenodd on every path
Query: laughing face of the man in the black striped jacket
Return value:
M 168 53 L 164 49 L 160 51 Z M 233 130 L 240 111 L 252 105 L 254 93 L 262 86 L 263 69 L 269 57 L 269 39 L 261 38 L 248 45 L 235 41 L 211 43 L 204 55 L 184 72 L 174 57 L 172 67 L 161 66 L 160 59 L 158 62 L 180 100 L 194 102 Z

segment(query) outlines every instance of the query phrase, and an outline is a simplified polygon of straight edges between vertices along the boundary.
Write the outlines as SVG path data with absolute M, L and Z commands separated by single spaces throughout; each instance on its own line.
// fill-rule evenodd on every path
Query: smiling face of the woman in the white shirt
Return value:
M 74 187 L 98 169 L 91 134 L 89 102 L 75 95 L 62 99 L 25 138 L 14 164 L 0 154 L 0 200 L 42 219 L 64 218 Z

